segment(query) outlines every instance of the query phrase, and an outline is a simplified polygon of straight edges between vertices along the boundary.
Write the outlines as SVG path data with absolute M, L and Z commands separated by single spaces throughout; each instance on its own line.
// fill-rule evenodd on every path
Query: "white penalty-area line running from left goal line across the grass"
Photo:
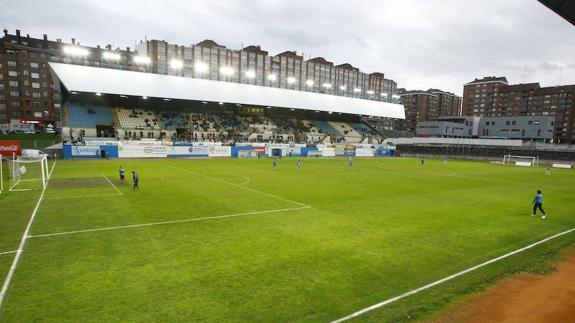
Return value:
M 217 219 L 233 218 L 233 217 L 247 216 L 247 215 L 260 215 L 260 214 L 269 214 L 269 213 L 278 213 L 278 212 L 297 211 L 297 210 L 303 210 L 303 209 L 309 209 L 309 208 L 311 208 L 311 206 L 307 206 L 307 205 L 306 205 L 306 206 L 301 206 L 301 207 L 296 207 L 296 208 L 289 208 L 289 209 L 276 209 L 276 210 L 256 211 L 256 212 L 246 212 L 246 213 L 236 213 L 236 214 L 228 214 L 228 215 L 217 215 L 217 216 L 209 216 L 209 217 L 203 217 L 203 218 L 184 219 L 184 220 L 173 220 L 173 221 L 162 221 L 162 222 L 150 222 L 150 223 L 131 224 L 131 225 L 123 225 L 123 226 L 115 226 L 115 227 L 105 227 L 105 228 L 97 228 L 97 229 L 87 229 L 87 230 L 78 230 L 78 231 L 46 233 L 46 234 L 38 234 L 38 235 L 29 236 L 28 238 L 54 237 L 54 236 L 63 236 L 63 235 L 68 235 L 68 234 L 85 233 L 85 232 L 109 231 L 109 230 L 119 230 L 119 229 L 130 229 L 130 228 L 147 227 L 147 226 L 162 225 L 162 224 L 173 224 L 173 223 L 185 223 L 185 222 L 197 222 L 197 221 L 206 221 L 206 220 L 217 220 Z

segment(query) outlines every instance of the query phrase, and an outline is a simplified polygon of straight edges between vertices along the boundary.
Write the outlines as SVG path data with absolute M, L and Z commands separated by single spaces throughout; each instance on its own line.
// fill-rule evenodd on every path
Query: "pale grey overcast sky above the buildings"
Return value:
M 575 27 L 536 0 L 0 0 L 0 23 L 90 46 L 147 37 L 296 50 L 408 89 L 461 94 L 490 75 L 575 84 Z

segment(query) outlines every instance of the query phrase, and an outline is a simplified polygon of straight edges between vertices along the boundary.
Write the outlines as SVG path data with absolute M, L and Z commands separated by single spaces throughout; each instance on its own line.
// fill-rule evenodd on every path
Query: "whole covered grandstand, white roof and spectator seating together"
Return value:
M 57 63 L 51 67 L 65 86 L 62 134 L 71 141 L 78 139 L 73 134 L 81 134 L 226 144 L 378 143 L 382 136 L 362 116 L 404 117 L 401 105 L 373 100 Z

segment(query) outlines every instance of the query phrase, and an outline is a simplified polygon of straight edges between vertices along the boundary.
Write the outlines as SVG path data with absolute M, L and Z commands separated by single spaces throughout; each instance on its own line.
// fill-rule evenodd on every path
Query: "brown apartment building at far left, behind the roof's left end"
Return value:
M 0 39 L 0 123 L 20 120 L 23 123 L 59 126 L 61 121 L 60 85 L 52 79 L 48 62 L 140 70 L 133 66 L 130 49 L 112 50 L 83 47 L 71 40 L 48 40 L 14 35 L 4 30 Z

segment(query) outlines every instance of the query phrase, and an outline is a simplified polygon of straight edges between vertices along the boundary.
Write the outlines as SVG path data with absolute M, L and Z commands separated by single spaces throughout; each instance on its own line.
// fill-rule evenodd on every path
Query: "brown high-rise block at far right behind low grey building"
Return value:
M 575 142 L 575 85 L 510 85 L 504 77 L 490 77 L 465 84 L 463 93 L 463 115 L 553 116 L 554 141 Z

